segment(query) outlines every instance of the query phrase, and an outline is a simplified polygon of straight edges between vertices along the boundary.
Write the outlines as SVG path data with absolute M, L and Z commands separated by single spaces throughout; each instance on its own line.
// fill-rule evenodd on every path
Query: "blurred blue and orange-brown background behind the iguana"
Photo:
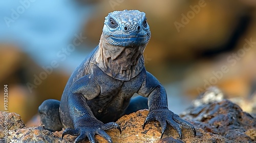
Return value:
M 145 66 L 166 88 L 170 110 L 182 112 L 214 85 L 256 112 L 254 0 L 1 1 L 0 110 L 8 84 L 8 111 L 35 125 L 38 106 L 60 100 L 72 71 L 97 46 L 104 17 L 124 9 L 146 13 L 152 38 Z

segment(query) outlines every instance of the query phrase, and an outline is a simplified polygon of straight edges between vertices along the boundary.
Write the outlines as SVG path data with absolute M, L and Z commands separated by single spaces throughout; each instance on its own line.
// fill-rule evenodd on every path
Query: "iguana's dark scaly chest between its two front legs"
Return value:
M 133 94 L 143 83 L 145 70 L 129 81 L 113 79 L 100 72 L 95 75 L 96 84 L 100 86 L 100 94 L 87 103 L 98 120 L 109 122 L 123 115 Z

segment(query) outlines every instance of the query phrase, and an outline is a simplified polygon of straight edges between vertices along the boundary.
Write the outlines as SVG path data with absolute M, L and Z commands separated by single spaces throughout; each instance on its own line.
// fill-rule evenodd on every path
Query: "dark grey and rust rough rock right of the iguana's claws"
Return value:
M 230 141 L 256 141 L 256 118 L 229 100 L 191 107 L 182 117 L 205 132 L 221 135 Z

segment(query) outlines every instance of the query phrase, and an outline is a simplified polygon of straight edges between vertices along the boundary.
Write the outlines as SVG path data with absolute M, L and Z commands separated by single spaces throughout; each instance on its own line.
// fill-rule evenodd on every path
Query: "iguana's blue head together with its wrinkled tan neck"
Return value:
M 144 12 L 111 12 L 104 20 L 95 64 L 115 79 L 130 80 L 144 67 L 143 52 L 150 37 Z

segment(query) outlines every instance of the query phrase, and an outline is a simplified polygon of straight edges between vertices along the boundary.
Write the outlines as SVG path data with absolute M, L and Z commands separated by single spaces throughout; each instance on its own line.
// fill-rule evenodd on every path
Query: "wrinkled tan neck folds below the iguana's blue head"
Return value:
M 144 47 L 114 46 L 100 40 L 99 47 L 92 62 L 104 73 L 122 81 L 129 81 L 136 77 L 143 69 Z

